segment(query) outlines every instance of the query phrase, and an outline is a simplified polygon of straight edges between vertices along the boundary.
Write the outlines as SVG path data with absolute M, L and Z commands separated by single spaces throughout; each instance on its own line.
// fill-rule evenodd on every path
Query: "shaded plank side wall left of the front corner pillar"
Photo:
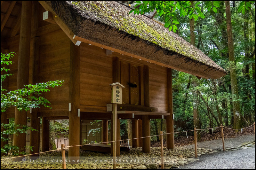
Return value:
M 38 31 L 36 36 L 40 37 L 40 67 L 39 82 L 47 82 L 51 80 L 64 80 L 62 87 L 49 88 L 51 91 L 43 93 L 51 104 L 52 110 L 42 106 L 39 109 L 40 116 L 59 116 L 64 115 L 62 111 L 66 111 L 68 115 L 69 100 L 69 63 L 70 63 L 70 40 L 67 35 L 56 24 L 43 21 L 44 8 L 39 5 Z M 31 38 L 32 40 L 32 38 Z M 18 68 L 18 51 L 19 51 L 19 35 L 13 36 L 5 40 L 9 46 L 10 52 L 15 52 L 14 63 L 9 66 L 10 73 L 13 75 L 8 78 L 8 90 L 16 90 L 17 85 L 17 68 Z M 32 42 L 32 41 L 31 41 Z M 1 47 L 2 49 L 2 47 Z M 30 48 L 30 52 L 32 48 Z M 31 58 L 30 58 L 31 60 Z M 31 83 L 31 66 L 29 67 L 29 83 Z M 15 108 L 7 110 L 8 117 L 14 116 Z M 54 110 L 54 112 L 52 112 Z M 62 114 L 63 113 L 63 114 Z M 58 114 L 58 115 L 56 115 Z

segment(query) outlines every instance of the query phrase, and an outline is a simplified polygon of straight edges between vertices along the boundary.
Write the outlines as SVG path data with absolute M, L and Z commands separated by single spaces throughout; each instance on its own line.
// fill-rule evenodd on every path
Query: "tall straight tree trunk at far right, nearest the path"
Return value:
M 230 70 L 230 81 L 231 81 L 231 90 L 232 94 L 238 96 L 237 89 L 237 80 L 236 80 L 236 69 L 235 69 L 235 58 L 234 58 L 234 44 L 233 44 L 233 34 L 232 34 L 232 24 L 231 24 L 231 12 L 230 12 L 230 4 L 229 1 L 225 1 L 226 6 L 226 16 L 227 16 L 227 33 L 228 33 L 228 56 L 229 61 L 233 62 L 233 66 L 231 66 Z M 240 104 L 239 101 L 233 101 L 233 113 L 234 113 L 234 129 L 242 128 L 242 120 L 241 120 L 241 112 L 240 112 Z M 238 132 L 239 130 L 235 130 Z

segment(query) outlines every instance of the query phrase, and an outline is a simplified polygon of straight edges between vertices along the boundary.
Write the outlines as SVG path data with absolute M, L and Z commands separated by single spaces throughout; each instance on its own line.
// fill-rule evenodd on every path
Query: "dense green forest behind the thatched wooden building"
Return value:
M 219 127 L 222 124 L 226 127 L 242 128 L 253 124 L 255 121 L 254 1 L 122 2 L 130 4 L 129 6 L 135 9 L 131 10 L 130 15 L 147 15 L 156 9 L 154 19 L 163 22 L 164 27 L 195 45 L 228 72 L 226 76 L 216 80 L 199 80 L 194 75 L 173 70 L 174 120 L 183 123 L 182 127 L 175 126 L 174 131 L 193 130 L 196 126 L 201 129 Z M 227 17 L 228 15 L 230 17 Z M 229 25 L 227 25 L 228 18 L 231 19 L 228 20 Z M 227 29 L 230 23 L 231 30 Z M 233 50 L 228 43 L 233 43 Z M 120 126 L 121 139 L 128 137 L 131 139 L 130 120 L 120 120 Z M 158 135 L 159 130 L 163 130 L 163 119 L 151 119 L 150 128 L 151 135 Z M 100 131 L 101 128 L 97 128 L 92 129 L 90 133 Z M 207 132 L 212 133 L 212 129 Z M 200 139 L 200 132 L 197 136 Z M 175 134 L 175 137 L 178 137 L 178 134 Z M 151 140 L 159 139 L 151 137 Z

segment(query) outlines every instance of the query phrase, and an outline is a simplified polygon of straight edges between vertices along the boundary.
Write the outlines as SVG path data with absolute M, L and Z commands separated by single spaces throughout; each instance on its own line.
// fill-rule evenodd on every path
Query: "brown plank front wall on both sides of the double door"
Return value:
M 81 43 L 80 63 L 80 104 L 84 112 L 106 112 L 106 104 L 111 102 L 112 57 L 106 56 L 106 49 Z M 120 61 L 136 66 L 149 66 L 150 107 L 167 111 L 167 70 L 120 53 L 112 52 Z M 122 68 L 121 68 L 122 69 Z M 128 86 L 128 85 L 124 85 Z

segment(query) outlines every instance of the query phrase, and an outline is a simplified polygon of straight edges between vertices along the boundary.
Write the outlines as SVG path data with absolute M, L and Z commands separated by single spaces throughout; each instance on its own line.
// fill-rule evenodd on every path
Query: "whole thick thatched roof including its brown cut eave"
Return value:
M 129 14 L 128 7 L 115 1 L 47 2 L 72 32 L 84 39 L 205 78 L 219 78 L 226 71 L 155 21 Z

